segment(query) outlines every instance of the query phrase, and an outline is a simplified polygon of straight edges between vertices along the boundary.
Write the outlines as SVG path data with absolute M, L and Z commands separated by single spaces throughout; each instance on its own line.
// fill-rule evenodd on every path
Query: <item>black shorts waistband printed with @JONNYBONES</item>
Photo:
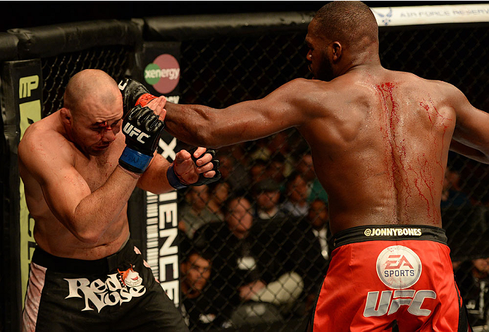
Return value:
M 341 230 L 334 236 L 333 247 L 365 241 L 431 240 L 447 244 L 445 230 L 421 225 L 368 225 Z

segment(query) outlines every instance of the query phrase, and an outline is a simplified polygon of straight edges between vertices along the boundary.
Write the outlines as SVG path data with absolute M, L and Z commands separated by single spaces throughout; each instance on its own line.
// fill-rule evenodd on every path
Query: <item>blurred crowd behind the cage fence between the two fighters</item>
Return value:
M 314 305 L 328 196 L 307 147 L 297 154 L 287 135 L 219 149 L 221 180 L 182 193 L 180 310 L 191 331 L 307 319 Z

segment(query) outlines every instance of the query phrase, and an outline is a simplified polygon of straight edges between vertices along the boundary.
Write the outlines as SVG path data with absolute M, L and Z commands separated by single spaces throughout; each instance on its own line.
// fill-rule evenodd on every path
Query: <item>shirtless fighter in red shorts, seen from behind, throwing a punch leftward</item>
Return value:
M 218 147 L 295 127 L 309 142 L 335 236 L 314 331 L 467 331 L 440 195 L 449 149 L 489 162 L 489 114 L 446 82 L 383 68 L 359 1 L 323 6 L 306 42 L 313 80 L 225 109 L 167 103 L 168 132 Z

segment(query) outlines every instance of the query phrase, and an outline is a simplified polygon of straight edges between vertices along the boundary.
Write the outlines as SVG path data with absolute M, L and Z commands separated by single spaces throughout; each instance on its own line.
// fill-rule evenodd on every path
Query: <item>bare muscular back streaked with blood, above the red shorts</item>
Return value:
M 332 232 L 371 224 L 440 227 L 455 127 L 440 86 L 445 83 L 381 70 L 317 84 L 328 90 L 323 109 L 317 106 L 324 116 L 299 130 L 328 192 Z

